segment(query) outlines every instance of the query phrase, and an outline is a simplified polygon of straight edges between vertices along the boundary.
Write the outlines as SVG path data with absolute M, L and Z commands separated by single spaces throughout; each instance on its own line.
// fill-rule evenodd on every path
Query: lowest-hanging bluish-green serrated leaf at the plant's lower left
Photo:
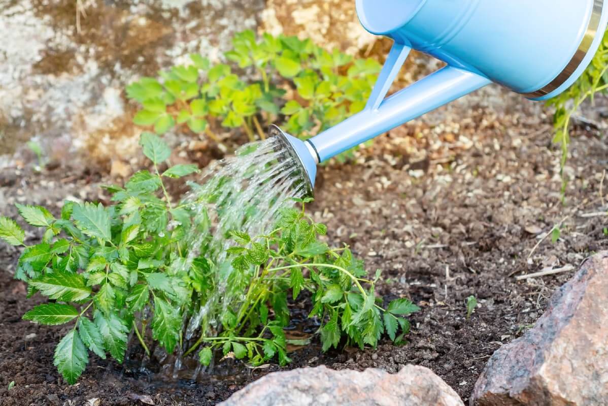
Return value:
M 55 348 L 54 365 L 57 366 L 57 370 L 67 383 L 74 385 L 88 362 L 89 355 L 85 345 L 80 340 L 80 335 L 77 331 L 71 330 L 61 338 Z

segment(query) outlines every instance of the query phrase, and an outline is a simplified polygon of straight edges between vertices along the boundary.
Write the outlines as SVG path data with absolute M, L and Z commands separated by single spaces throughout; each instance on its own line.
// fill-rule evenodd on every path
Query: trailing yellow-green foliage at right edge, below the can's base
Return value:
M 568 159 L 568 144 L 570 144 L 570 127 L 572 116 L 586 100 L 592 100 L 595 94 L 606 93 L 608 90 L 608 31 L 589 67 L 581 77 L 564 93 L 547 101 L 548 106 L 555 107 L 553 127 L 555 135 L 553 142 L 561 145 L 561 177 L 562 200 L 565 198 L 567 179 L 564 167 Z

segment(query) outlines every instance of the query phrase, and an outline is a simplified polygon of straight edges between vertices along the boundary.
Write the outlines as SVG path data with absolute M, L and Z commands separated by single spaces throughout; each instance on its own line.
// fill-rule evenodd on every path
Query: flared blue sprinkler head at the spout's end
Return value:
M 283 132 L 283 130 L 274 124 L 270 126 L 269 133 L 271 137 L 279 139 L 281 144 L 280 150 L 297 167 L 294 173 L 305 184 L 306 196 L 313 197 L 314 178 L 317 175 L 317 163 L 319 163 L 313 145 Z

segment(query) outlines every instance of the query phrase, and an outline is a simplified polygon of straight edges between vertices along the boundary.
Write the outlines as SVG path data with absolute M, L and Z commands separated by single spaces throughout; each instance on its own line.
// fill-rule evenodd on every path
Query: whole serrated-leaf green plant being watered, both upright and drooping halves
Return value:
M 140 144 L 153 170 L 140 170 L 124 187 L 106 186 L 113 205 L 66 201 L 59 218 L 41 206 L 17 205 L 27 223 L 44 229 L 42 242 L 35 245 L 26 244 L 14 220 L 0 217 L 0 239 L 24 246 L 15 277 L 27 282 L 28 296 L 40 293 L 49 299 L 23 318 L 71 323 L 54 361 L 67 382 L 76 382 L 84 371 L 89 351 L 122 362 L 131 332 L 148 354 L 153 345 L 169 353 L 198 351 L 207 365 L 213 350 L 221 348 L 254 365 L 277 355 L 283 365 L 289 361 L 283 333 L 288 294 L 297 298 L 304 291 L 311 295 L 311 317 L 319 320 L 324 350 L 337 347 L 342 338 L 376 346 L 383 332 L 403 341 L 409 331 L 404 316 L 418 307 L 402 298 L 384 309 L 374 290 L 379 272 L 374 280 L 366 279 L 362 262 L 347 247 L 320 242 L 326 228 L 306 216 L 303 207 L 283 211 L 268 235 L 235 230 L 226 236 L 236 242 L 227 251 L 234 271 L 227 290 L 219 292 L 214 275 L 225 271 L 224 264 L 206 257 L 206 239 L 202 247 L 192 247 L 185 238 L 192 225 L 203 237 L 210 233 L 209 222 L 193 220 L 207 214 L 193 212 L 189 201 L 174 203 L 165 186 L 171 178 L 196 172 L 196 166 L 163 171 L 170 156 L 167 144 L 153 133 L 143 133 Z M 202 196 L 203 203 L 213 201 L 213 194 Z M 190 252 L 195 248 L 202 254 Z M 209 309 L 220 325 L 190 342 L 184 320 L 195 317 L 199 305 L 215 303 L 209 299 L 218 293 L 237 300 Z

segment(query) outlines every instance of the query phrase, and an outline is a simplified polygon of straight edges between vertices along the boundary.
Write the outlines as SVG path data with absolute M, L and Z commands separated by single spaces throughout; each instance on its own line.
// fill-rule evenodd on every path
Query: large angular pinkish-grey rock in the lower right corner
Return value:
M 551 297 L 536 326 L 494 352 L 471 405 L 608 404 L 608 251 Z

